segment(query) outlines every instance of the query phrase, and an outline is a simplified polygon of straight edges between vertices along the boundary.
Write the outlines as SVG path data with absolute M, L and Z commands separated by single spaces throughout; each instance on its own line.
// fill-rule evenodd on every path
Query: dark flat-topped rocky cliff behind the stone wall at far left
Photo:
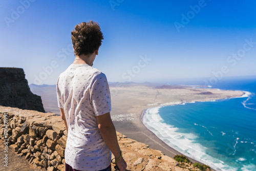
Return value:
M 45 112 L 41 97 L 30 91 L 22 68 L 0 68 L 0 105 Z

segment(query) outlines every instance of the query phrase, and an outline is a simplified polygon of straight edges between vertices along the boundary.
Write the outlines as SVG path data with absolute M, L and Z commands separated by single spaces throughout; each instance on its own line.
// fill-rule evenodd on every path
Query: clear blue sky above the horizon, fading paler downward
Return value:
M 115 82 L 256 75 L 255 1 L 1 1 L 0 67 L 55 84 L 73 62 L 71 31 L 96 21 L 95 68 Z

